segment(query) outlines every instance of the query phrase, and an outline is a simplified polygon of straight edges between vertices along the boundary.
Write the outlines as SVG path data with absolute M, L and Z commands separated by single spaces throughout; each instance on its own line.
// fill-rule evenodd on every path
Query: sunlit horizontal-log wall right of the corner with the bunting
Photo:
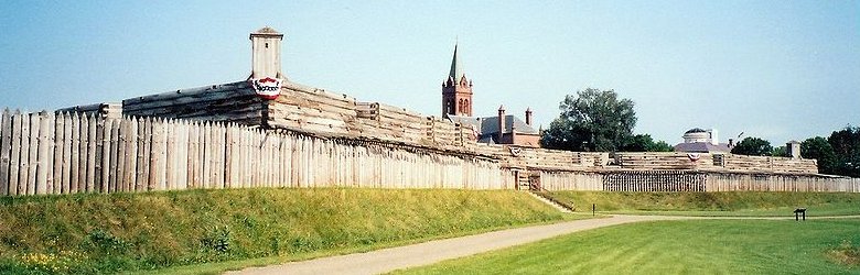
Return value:
M 269 129 L 324 135 L 365 136 L 398 143 L 464 146 L 474 143 L 471 129 L 378 102 L 361 102 L 342 94 L 284 82 L 281 95 L 262 114 Z

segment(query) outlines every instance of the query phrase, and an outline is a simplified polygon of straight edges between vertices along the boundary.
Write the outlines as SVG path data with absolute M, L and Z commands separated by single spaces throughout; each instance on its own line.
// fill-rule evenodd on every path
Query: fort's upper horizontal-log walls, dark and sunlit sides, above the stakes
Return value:
M 78 107 L 87 111 L 98 107 Z M 104 105 L 103 105 L 104 106 Z M 83 108 L 83 109 L 82 109 Z M 75 108 L 64 109 L 74 111 Z M 112 109 L 111 109 L 112 110 Z M 122 101 L 122 114 L 196 121 L 236 122 L 264 129 L 282 129 L 340 138 L 369 138 L 432 147 L 460 147 L 476 154 L 492 154 L 502 165 L 549 170 L 599 170 L 608 166 L 626 169 L 694 169 L 714 172 L 816 174 L 814 160 L 686 153 L 574 153 L 557 150 L 476 143 L 472 130 L 436 117 L 378 102 L 361 102 L 336 94 L 283 81 L 280 96 L 262 100 L 247 81 L 130 98 Z

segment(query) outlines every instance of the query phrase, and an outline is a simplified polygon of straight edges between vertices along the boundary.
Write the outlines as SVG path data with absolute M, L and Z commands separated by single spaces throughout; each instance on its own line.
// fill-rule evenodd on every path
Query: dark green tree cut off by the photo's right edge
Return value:
M 860 177 L 860 128 L 848 125 L 827 139 L 834 147 L 836 175 Z

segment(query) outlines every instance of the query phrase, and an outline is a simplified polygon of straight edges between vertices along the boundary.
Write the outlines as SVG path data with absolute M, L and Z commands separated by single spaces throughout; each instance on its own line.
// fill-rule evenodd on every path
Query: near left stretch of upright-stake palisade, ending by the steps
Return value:
M 0 195 L 243 187 L 506 189 L 497 160 L 234 123 L 0 116 Z

